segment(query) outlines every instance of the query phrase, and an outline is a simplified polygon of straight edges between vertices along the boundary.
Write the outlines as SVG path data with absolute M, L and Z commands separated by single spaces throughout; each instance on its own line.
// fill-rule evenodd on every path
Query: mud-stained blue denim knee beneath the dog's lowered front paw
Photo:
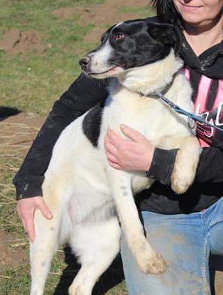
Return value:
M 151 217 L 151 214 L 148 216 Z M 161 275 L 142 273 L 125 238 L 121 239 L 121 255 L 128 293 L 130 295 L 204 294 L 203 288 L 207 288 L 208 285 L 208 278 L 203 278 L 201 270 L 205 236 L 194 233 L 194 229 L 193 233 L 190 232 L 186 225 L 182 229 L 180 226 L 183 220 L 168 222 L 162 220 L 161 215 L 159 220 L 144 216 L 143 221 L 149 243 L 167 262 L 165 273 Z M 198 232 L 201 233 L 199 230 Z

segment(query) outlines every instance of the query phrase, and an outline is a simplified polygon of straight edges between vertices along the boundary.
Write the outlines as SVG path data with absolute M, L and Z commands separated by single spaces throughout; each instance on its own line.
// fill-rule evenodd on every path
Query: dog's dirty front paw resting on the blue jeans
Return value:
M 151 273 L 160 275 L 167 269 L 167 264 L 161 255 L 158 255 L 154 250 L 144 249 L 136 255 L 137 264 L 143 273 Z

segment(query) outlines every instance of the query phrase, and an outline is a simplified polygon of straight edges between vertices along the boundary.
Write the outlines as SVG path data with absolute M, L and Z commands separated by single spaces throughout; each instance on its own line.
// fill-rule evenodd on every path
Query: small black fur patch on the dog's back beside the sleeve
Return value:
M 82 123 L 84 135 L 86 135 L 91 144 L 95 147 L 98 147 L 103 109 L 104 103 L 95 105 L 95 107 L 90 109 L 88 114 L 86 114 Z

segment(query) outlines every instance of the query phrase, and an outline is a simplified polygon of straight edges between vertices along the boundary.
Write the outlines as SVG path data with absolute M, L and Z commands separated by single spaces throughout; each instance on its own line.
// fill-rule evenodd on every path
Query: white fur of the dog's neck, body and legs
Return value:
M 121 230 L 117 217 L 112 214 L 115 207 L 141 271 L 165 271 L 164 260 L 146 241 L 133 199 L 135 191 L 148 188 L 153 180 L 146 178 L 143 172 L 123 172 L 110 167 L 103 142 L 108 127 L 123 136 L 119 126 L 125 123 L 139 130 L 155 146 L 179 147 L 181 154 L 174 166 L 172 181 L 176 191 L 186 190 L 194 179 L 199 160 L 199 144 L 196 137 L 192 137 L 194 130 L 187 126 L 184 116 L 174 114 L 160 100 L 141 97 L 135 92 L 148 95 L 165 89 L 181 66 L 182 62 L 171 52 L 162 61 L 122 73 L 119 82 L 114 79 L 102 115 L 97 149 L 82 131 L 86 114 L 63 130 L 54 146 L 43 183 L 43 198 L 54 218 L 46 220 L 39 212 L 35 215 L 31 295 L 43 294 L 52 255 L 59 243 L 65 241 L 70 243 L 82 264 L 70 286 L 70 294 L 91 294 L 95 281 L 119 250 Z M 191 93 L 185 77 L 178 73 L 166 96 L 193 112 Z

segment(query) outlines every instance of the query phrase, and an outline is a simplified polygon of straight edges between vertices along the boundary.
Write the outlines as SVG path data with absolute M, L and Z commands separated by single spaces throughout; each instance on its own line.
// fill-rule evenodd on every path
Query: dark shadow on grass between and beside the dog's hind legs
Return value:
M 64 248 L 64 252 L 65 262 L 68 266 L 61 275 L 61 279 L 55 289 L 54 295 L 68 294 L 68 288 L 79 271 L 79 264 L 77 264 L 75 256 L 72 255 L 70 247 L 66 246 Z M 109 289 L 112 289 L 118 283 L 122 282 L 122 280 L 124 280 L 123 265 L 121 257 L 118 255 L 112 265 L 107 269 L 107 271 L 105 271 L 100 280 L 96 283 L 93 288 L 92 295 L 104 295 Z

